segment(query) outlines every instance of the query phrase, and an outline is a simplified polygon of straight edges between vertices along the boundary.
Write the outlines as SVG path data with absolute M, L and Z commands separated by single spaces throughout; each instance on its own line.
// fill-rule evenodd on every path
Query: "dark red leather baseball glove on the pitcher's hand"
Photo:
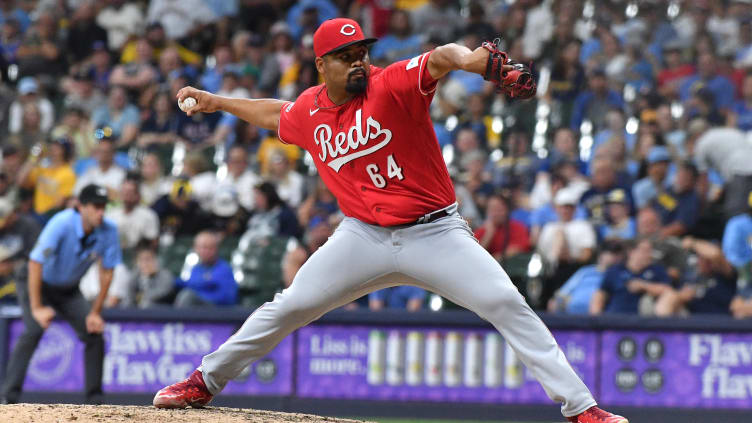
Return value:
M 511 60 L 505 52 L 499 50 L 500 42 L 497 38 L 494 42 L 483 43 L 483 48 L 489 52 L 483 79 L 493 82 L 496 92 L 503 92 L 507 97 L 527 99 L 534 96 L 536 85 L 530 68 Z M 504 65 L 512 66 L 513 69 L 504 70 Z

